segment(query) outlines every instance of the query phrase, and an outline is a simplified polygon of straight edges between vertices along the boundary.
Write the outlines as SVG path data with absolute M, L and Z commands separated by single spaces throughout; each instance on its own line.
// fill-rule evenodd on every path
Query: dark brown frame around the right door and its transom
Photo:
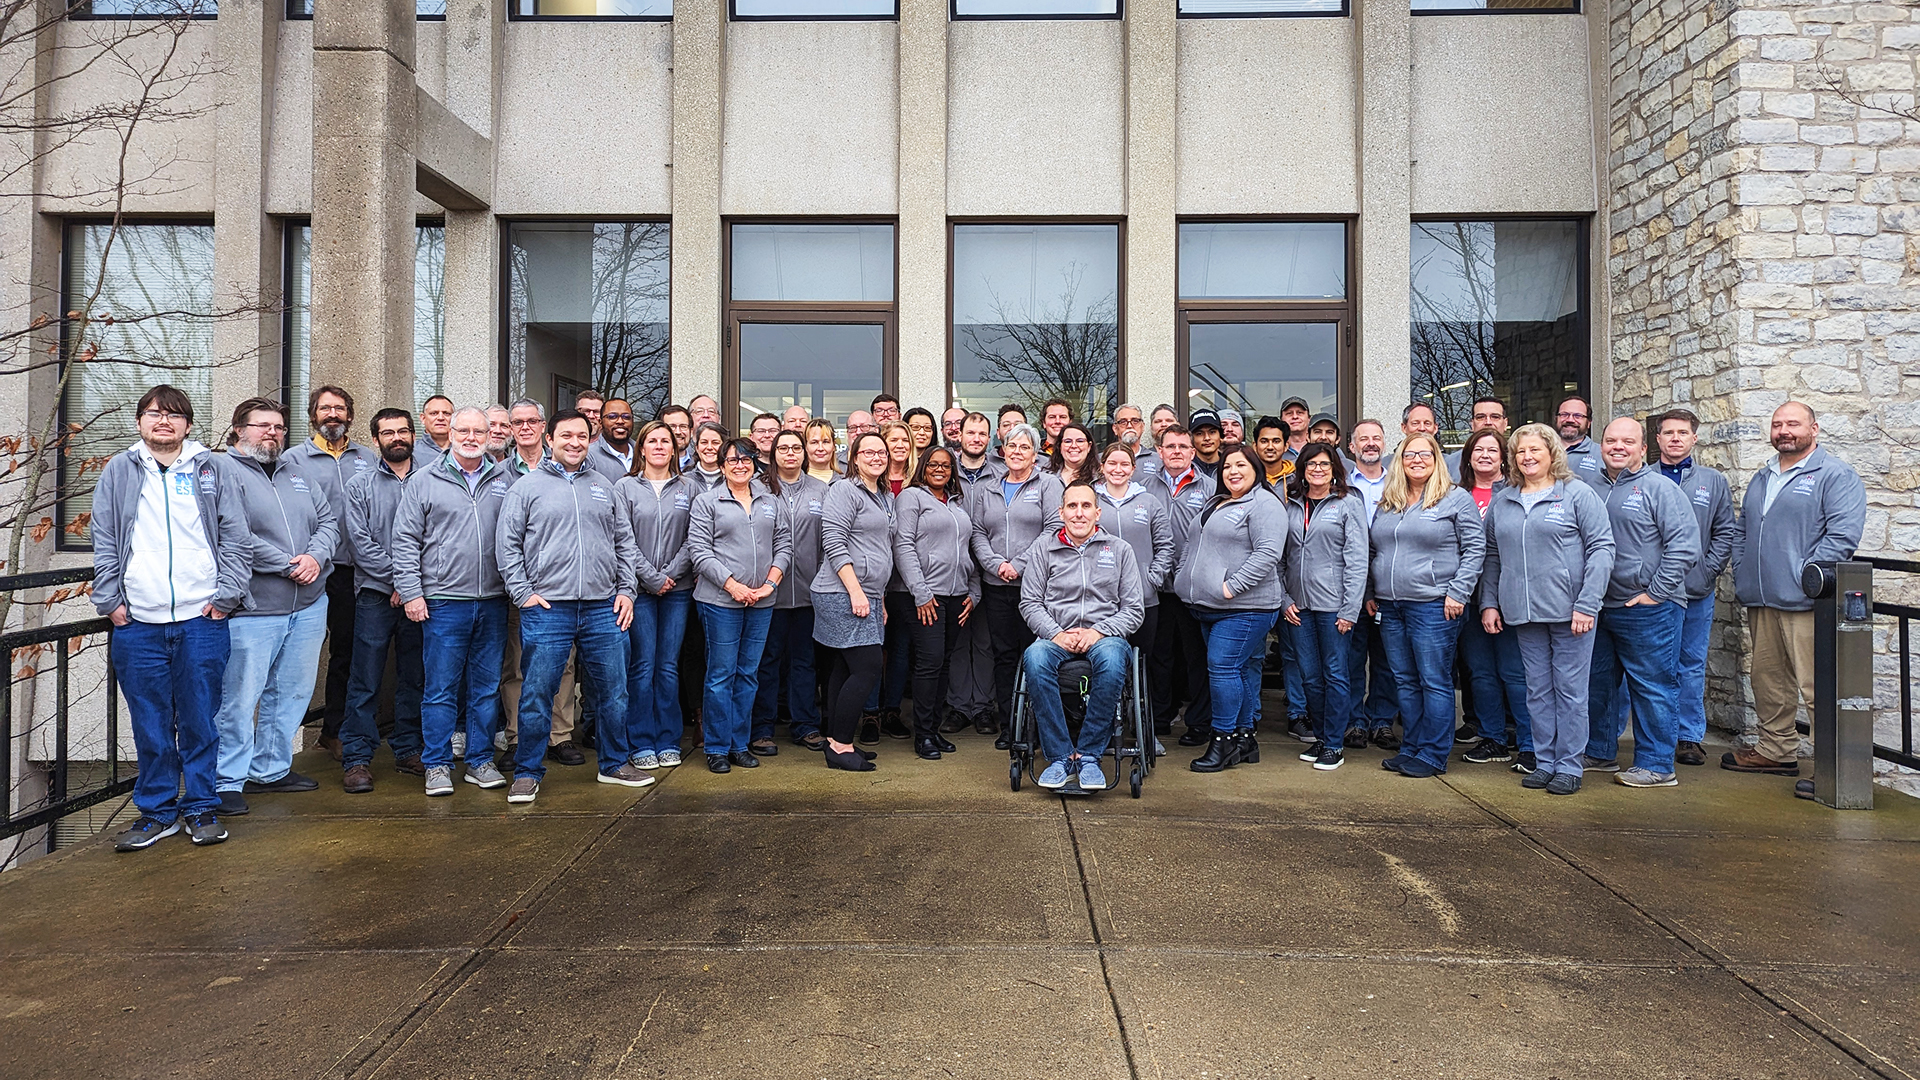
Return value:
M 1248 300 L 1248 298 L 1185 298 L 1181 296 L 1179 267 L 1179 229 L 1183 225 L 1311 225 L 1338 223 L 1346 231 L 1346 296 L 1331 300 L 1323 296 L 1304 300 Z M 1192 413 L 1192 334 L 1194 323 L 1336 323 L 1334 334 L 1334 394 L 1338 404 L 1334 417 L 1340 430 L 1354 430 L 1359 419 L 1359 302 L 1354 298 L 1354 281 L 1359 273 L 1359 246 L 1356 244 L 1357 219 L 1342 213 L 1192 213 L 1173 221 L 1173 407 L 1179 409 L 1181 423 Z M 1411 229 L 1411 225 L 1409 225 Z M 1258 417 L 1246 417 L 1252 425 Z

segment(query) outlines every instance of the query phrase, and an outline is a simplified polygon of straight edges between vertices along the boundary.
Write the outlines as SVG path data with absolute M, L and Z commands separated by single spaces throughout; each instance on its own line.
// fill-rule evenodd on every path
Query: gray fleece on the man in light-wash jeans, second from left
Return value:
M 246 523 L 253 532 L 253 578 L 242 615 L 292 615 L 326 596 L 326 575 L 340 550 L 340 519 L 319 484 L 309 482 L 300 463 L 286 454 L 273 477 L 259 461 L 227 452 L 215 457 L 221 486 L 240 494 Z M 294 584 L 288 577 L 296 555 L 313 555 L 321 577 L 313 584 Z

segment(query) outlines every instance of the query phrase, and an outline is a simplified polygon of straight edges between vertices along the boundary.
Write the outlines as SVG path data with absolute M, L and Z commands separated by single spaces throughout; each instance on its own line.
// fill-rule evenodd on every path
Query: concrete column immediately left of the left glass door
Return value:
M 674 400 L 720 398 L 720 73 L 726 0 L 674 4 Z

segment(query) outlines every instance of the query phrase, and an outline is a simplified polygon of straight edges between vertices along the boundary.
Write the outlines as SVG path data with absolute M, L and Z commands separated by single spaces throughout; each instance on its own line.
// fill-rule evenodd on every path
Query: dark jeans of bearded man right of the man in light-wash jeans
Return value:
M 426 694 L 420 625 L 394 607 L 390 594 L 363 588 L 353 596 L 353 663 L 348 667 L 348 713 L 340 723 L 340 763 L 367 765 L 380 748 L 374 705 L 394 651 L 394 761 L 420 755 L 420 698 Z

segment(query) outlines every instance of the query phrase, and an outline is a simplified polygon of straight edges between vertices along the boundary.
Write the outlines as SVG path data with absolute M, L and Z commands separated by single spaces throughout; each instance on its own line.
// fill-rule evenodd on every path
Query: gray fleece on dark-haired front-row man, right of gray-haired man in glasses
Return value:
M 515 607 L 528 598 L 612 600 L 634 596 L 634 527 L 612 484 L 582 465 L 547 459 L 507 490 L 499 507 L 499 577 Z

